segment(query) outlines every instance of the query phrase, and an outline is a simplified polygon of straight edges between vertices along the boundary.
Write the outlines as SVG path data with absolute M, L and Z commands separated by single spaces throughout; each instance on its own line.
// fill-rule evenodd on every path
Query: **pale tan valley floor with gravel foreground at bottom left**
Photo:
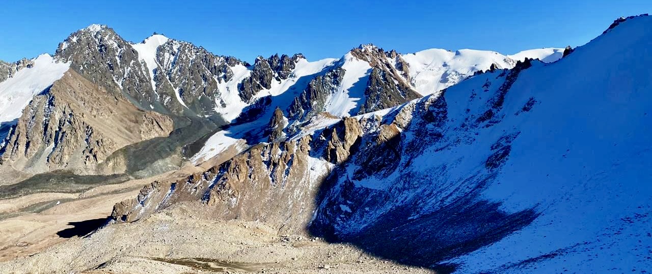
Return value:
M 135 197 L 152 179 L 0 200 L 0 273 L 432 272 L 351 245 L 279 235 L 259 222 L 203 219 L 198 204 L 80 237 L 102 225 L 98 221 L 115 202 Z

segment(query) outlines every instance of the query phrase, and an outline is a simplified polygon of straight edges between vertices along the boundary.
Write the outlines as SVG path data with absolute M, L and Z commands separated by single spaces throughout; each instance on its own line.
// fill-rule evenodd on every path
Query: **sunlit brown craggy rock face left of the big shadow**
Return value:
M 312 198 L 324 176 L 311 172 L 316 167 L 309 156 L 310 142 L 306 136 L 254 146 L 206 172 L 148 185 L 136 199 L 117 204 L 112 217 L 136 221 L 170 204 L 201 200 L 211 206 L 213 218 L 259 220 L 301 233 L 303 228 L 296 224 L 310 221 Z

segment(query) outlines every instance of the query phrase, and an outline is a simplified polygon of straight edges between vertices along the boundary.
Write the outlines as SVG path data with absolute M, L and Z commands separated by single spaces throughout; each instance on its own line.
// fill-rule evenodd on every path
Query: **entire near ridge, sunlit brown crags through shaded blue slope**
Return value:
M 645 269 L 651 24 L 619 21 L 559 62 L 526 60 L 398 107 L 312 115 L 282 140 L 266 131 L 271 143 L 155 182 L 112 217 L 186 203 L 442 272 Z

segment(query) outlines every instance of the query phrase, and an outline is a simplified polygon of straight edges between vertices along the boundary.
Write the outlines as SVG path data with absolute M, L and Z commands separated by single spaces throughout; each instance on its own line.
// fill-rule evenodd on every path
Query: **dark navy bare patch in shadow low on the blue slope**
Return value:
M 496 243 L 539 216 L 535 208 L 505 212 L 500 202 L 482 198 L 497 169 L 469 174 L 453 193 L 440 188 L 449 183 L 440 179 L 449 177 L 447 167 L 407 171 L 406 164 L 422 152 L 399 153 L 406 142 L 400 136 L 362 144 L 348 162 L 333 169 L 316 195 L 316 212 L 307 226 L 312 236 L 349 243 L 400 264 L 451 273 L 458 267 L 451 259 Z M 317 157 L 320 152 L 313 153 Z M 389 179 L 394 172 L 400 176 Z M 360 180 L 389 186 L 376 189 Z

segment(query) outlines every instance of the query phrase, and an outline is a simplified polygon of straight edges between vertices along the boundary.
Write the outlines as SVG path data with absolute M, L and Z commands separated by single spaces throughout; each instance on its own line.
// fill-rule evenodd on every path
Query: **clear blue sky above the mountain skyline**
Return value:
M 401 53 L 580 46 L 619 16 L 652 13 L 651 0 L 10 0 L 0 7 L 4 61 L 53 53 L 68 34 L 91 23 L 134 42 L 158 32 L 251 62 L 273 53 L 340 57 L 366 43 Z

